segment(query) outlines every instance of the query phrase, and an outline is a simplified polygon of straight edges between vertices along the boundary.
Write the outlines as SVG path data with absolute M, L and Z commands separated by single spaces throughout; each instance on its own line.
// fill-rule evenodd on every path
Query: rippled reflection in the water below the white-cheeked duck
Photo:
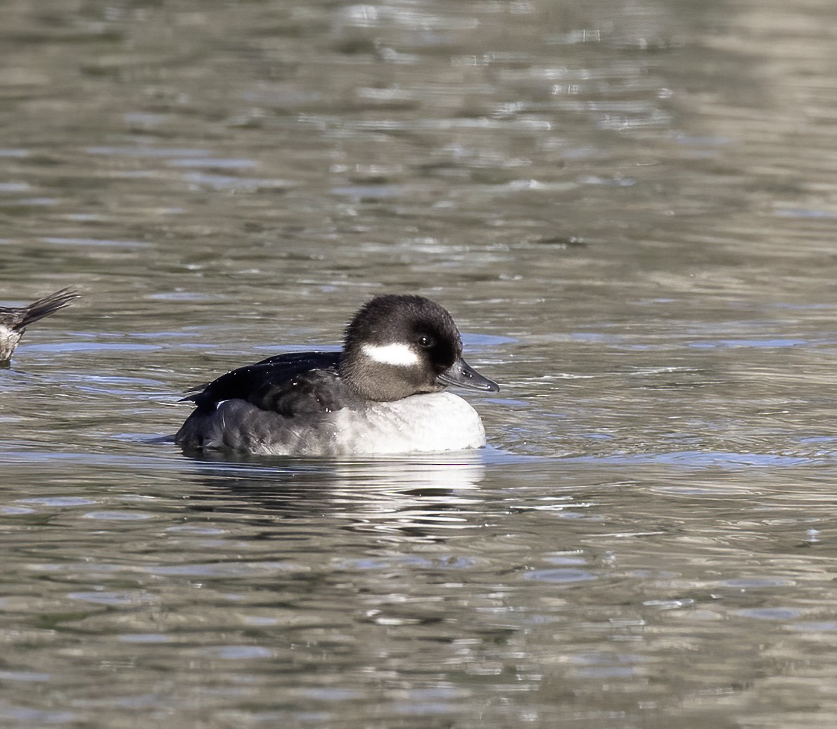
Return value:
M 300 460 L 203 454 L 196 511 L 336 521 L 353 531 L 421 539 L 480 526 L 481 451 L 393 458 Z

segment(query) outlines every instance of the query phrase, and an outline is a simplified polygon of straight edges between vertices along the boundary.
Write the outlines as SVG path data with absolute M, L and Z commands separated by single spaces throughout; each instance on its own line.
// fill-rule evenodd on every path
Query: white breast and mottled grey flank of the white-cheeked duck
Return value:
M 264 455 L 399 454 L 481 448 L 485 429 L 475 409 L 452 393 L 412 395 L 363 410 L 285 418 L 244 400 L 227 400 L 184 425 L 178 441 L 198 434 L 204 448 Z M 182 438 L 181 438 L 182 436 Z

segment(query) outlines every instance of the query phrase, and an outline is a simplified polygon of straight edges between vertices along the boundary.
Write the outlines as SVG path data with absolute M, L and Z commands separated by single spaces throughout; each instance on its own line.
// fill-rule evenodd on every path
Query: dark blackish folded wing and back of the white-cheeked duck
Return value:
M 327 413 L 359 399 L 341 382 L 339 352 L 290 352 L 239 367 L 190 395 L 198 410 L 213 412 L 223 400 L 240 399 L 262 410 L 293 417 Z

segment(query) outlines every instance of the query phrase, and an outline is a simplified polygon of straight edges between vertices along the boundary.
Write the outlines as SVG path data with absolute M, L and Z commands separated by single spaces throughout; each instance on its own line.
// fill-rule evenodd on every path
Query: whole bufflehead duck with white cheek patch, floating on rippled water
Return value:
M 485 429 L 448 385 L 496 392 L 462 358 L 460 331 L 424 296 L 382 295 L 346 327 L 342 352 L 292 352 L 227 372 L 191 400 L 185 450 L 333 456 L 481 448 Z

